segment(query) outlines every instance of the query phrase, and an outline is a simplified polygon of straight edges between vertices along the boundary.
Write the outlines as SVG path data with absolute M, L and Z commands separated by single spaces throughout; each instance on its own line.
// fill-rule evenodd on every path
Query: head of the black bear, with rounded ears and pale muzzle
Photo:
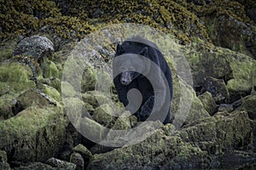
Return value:
M 142 59 L 142 57 L 147 57 L 147 55 L 147 47 L 139 51 L 131 49 L 125 50 L 125 47 L 118 44 L 115 57 L 122 56 L 122 59 L 118 59 L 114 62 L 113 71 L 119 71 L 121 74 L 119 81 L 122 85 L 127 86 L 138 77 L 143 77 L 141 73 L 148 70 L 148 64 L 145 63 L 145 59 Z

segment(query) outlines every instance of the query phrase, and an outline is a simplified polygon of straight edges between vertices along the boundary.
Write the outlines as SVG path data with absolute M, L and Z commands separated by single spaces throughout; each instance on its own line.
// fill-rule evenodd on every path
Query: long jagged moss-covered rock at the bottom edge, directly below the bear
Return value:
M 165 154 L 156 153 L 166 153 L 169 158 L 167 159 Z M 94 155 L 88 168 L 120 169 L 124 167 L 123 162 L 125 162 L 125 167 L 131 169 L 164 168 L 164 166 L 170 168 L 175 165 L 175 162 L 183 161 L 182 164 L 184 165 L 185 160 L 197 161 L 196 158 L 198 157 L 204 160 L 203 156 L 206 155 L 200 149 L 184 143 L 179 137 L 167 137 L 163 131 L 157 130 L 152 136 L 139 144 L 115 149 L 105 154 Z

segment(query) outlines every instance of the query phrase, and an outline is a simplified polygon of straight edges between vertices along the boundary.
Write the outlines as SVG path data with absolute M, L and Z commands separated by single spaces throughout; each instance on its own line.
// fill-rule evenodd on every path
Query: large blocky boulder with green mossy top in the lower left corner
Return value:
M 32 106 L 0 122 L 0 147 L 9 161 L 46 161 L 61 149 L 65 126 L 61 107 Z

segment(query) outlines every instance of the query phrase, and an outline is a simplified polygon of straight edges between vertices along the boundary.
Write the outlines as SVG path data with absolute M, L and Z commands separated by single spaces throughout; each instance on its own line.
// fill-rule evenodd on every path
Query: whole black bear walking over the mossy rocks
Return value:
M 137 116 L 138 121 L 145 121 L 153 113 L 149 120 L 160 120 L 164 124 L 171 121 L 172 73 L 153 42 L 132 37 L 117 45 L 113 59 L 113 83 L 119 100 L 126 110 Z M 132 91 L 134 89 L 140 95 Z

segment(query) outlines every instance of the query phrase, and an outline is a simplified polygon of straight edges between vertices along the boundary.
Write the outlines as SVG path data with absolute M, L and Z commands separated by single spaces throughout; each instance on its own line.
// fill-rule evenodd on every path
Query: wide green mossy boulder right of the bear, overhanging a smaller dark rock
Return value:
M 230 103 L 250 93 L 253 69 L 253 59 L 250 56 L 227 48 L 204 45 L 202 42 L 192 43 L 190 48 L 183 50 L 191 67 L 197 94 L 201 94 L 207 77 L 224 81 L 230 94 Z

